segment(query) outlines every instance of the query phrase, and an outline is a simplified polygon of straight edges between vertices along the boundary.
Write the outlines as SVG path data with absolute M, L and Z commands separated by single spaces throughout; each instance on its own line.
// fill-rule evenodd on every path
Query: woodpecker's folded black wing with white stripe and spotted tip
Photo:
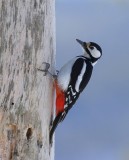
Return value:
M 83 56 L 78 57 L 75 61 L 72 67 L 68 89 L 65 92 L 65 110 L 62 113 L 62 120 L 74 105 L 80 93 L 86 87 L 91 77 L 92 69 L 92 65 L 88 63 L 86 58 L 84 58 Z

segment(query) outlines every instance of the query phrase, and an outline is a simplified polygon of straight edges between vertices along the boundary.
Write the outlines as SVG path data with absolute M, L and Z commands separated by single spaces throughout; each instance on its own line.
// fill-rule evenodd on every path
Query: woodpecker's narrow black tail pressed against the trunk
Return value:
M 61 121 L 61 116 L 62 116 L 62 113 L 60 113 L 60 114 L 58 114 L 56 116 L 56 118 L 54 119 L 54 122 L 52 124 L 52 128 L 50 129 L 50 133 L 49 133 L 49 142 L 50 142 L 50 144 L 52 144 L 53 134 L 54 134 L 54 132 L 56 130 L 56 127 L 58 126 L 58 124 Z

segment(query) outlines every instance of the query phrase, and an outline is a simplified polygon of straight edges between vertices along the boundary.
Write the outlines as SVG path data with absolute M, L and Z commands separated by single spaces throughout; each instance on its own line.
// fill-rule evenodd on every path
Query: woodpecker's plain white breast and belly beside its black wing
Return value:
M 57 77 L 58 85 L 59 87 L 61 87 L 63 91 L 66 91 L 68 88 L 72 66 L 76 61 L 76 59 L 77 58 L 73 58 L 68 63 L 66 63 L 58 73 Z

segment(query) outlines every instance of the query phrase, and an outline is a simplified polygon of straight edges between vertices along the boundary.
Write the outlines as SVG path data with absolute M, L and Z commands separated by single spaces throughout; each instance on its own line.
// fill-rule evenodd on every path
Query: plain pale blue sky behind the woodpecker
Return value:
M 57 69 L 97 42 L 103 56 L 56 130 L 56 160 L 129 160 L 129 1 L 56 0 Z

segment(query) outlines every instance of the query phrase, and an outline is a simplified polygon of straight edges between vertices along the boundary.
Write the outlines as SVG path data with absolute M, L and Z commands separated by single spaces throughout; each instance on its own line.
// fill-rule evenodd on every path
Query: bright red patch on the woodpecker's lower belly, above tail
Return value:
M 57 81 L 55 81 L 55 87 L 56 87 L 56 115 L 58 115 L 60 112 L 64 111 L 65 94 L 59 88 Z

